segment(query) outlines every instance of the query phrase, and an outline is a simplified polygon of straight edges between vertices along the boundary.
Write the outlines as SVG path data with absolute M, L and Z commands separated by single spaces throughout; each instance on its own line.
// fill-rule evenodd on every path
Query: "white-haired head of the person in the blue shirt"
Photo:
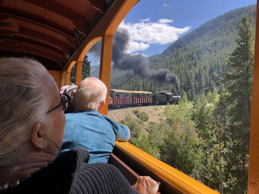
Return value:
M 87 109 L 97 110 L 100 102 L 106 99 L 107 87 L 100 79 L 88 77 L 78 86 L 75 93 L 75 105 Z

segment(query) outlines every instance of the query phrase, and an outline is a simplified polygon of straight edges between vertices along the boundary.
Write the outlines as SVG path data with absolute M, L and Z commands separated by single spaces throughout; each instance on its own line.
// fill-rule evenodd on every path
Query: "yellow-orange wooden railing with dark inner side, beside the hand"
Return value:
M 150 156 L 128 142 L 115 142 L 114 155 L 138 175 L 161 182 L 161 193 L 218 194 L 179 170 Z

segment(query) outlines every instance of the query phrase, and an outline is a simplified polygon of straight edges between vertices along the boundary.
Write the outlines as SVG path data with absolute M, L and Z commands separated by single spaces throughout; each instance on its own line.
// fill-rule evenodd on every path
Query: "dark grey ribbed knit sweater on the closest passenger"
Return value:
M 88 160 L 85 149 L 70 150 L 3 193 L 138 193 L 116 167 Z

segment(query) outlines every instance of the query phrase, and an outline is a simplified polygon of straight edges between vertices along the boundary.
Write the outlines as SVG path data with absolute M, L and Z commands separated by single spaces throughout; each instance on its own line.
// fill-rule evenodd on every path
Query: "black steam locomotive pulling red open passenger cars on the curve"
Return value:
M 126 91 L 126 90 L 117 90 L 110 89 L 110 92 L 116 92 L 115 97 L 110 95 L 108 108 L 114 109 L 118 107 L 134 107 L 138 105 L 166 105 L 169 104 L 178 104 L 181 101 L 181 96 L 178 94 L 172 94 L 169 91 L 159 92 L 159 95 L 152 95 L 152 92 L 145 91 Z M 118 95 L 118 93 L 131 93 L 131 97 L 125 97 Z M 138 94 L 150 94 L 151 96 L 142 96 L 139 97 Z

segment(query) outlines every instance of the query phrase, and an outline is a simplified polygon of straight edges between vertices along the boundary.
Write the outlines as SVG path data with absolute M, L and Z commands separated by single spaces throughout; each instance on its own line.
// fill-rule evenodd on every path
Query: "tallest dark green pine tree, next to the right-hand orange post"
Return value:
M 228 73 L 223 76 L 226 84 L 225 103 L 229 107 L 228 118 L 233 144 L 230 147 L 230 174 L 236 177 L 235 191 L 247 190 L 248 156 L 250 141 L 251 94 L 254 66 L 253 19 L 244 15 L 240 21 L 237 48 L 227 57 Z

